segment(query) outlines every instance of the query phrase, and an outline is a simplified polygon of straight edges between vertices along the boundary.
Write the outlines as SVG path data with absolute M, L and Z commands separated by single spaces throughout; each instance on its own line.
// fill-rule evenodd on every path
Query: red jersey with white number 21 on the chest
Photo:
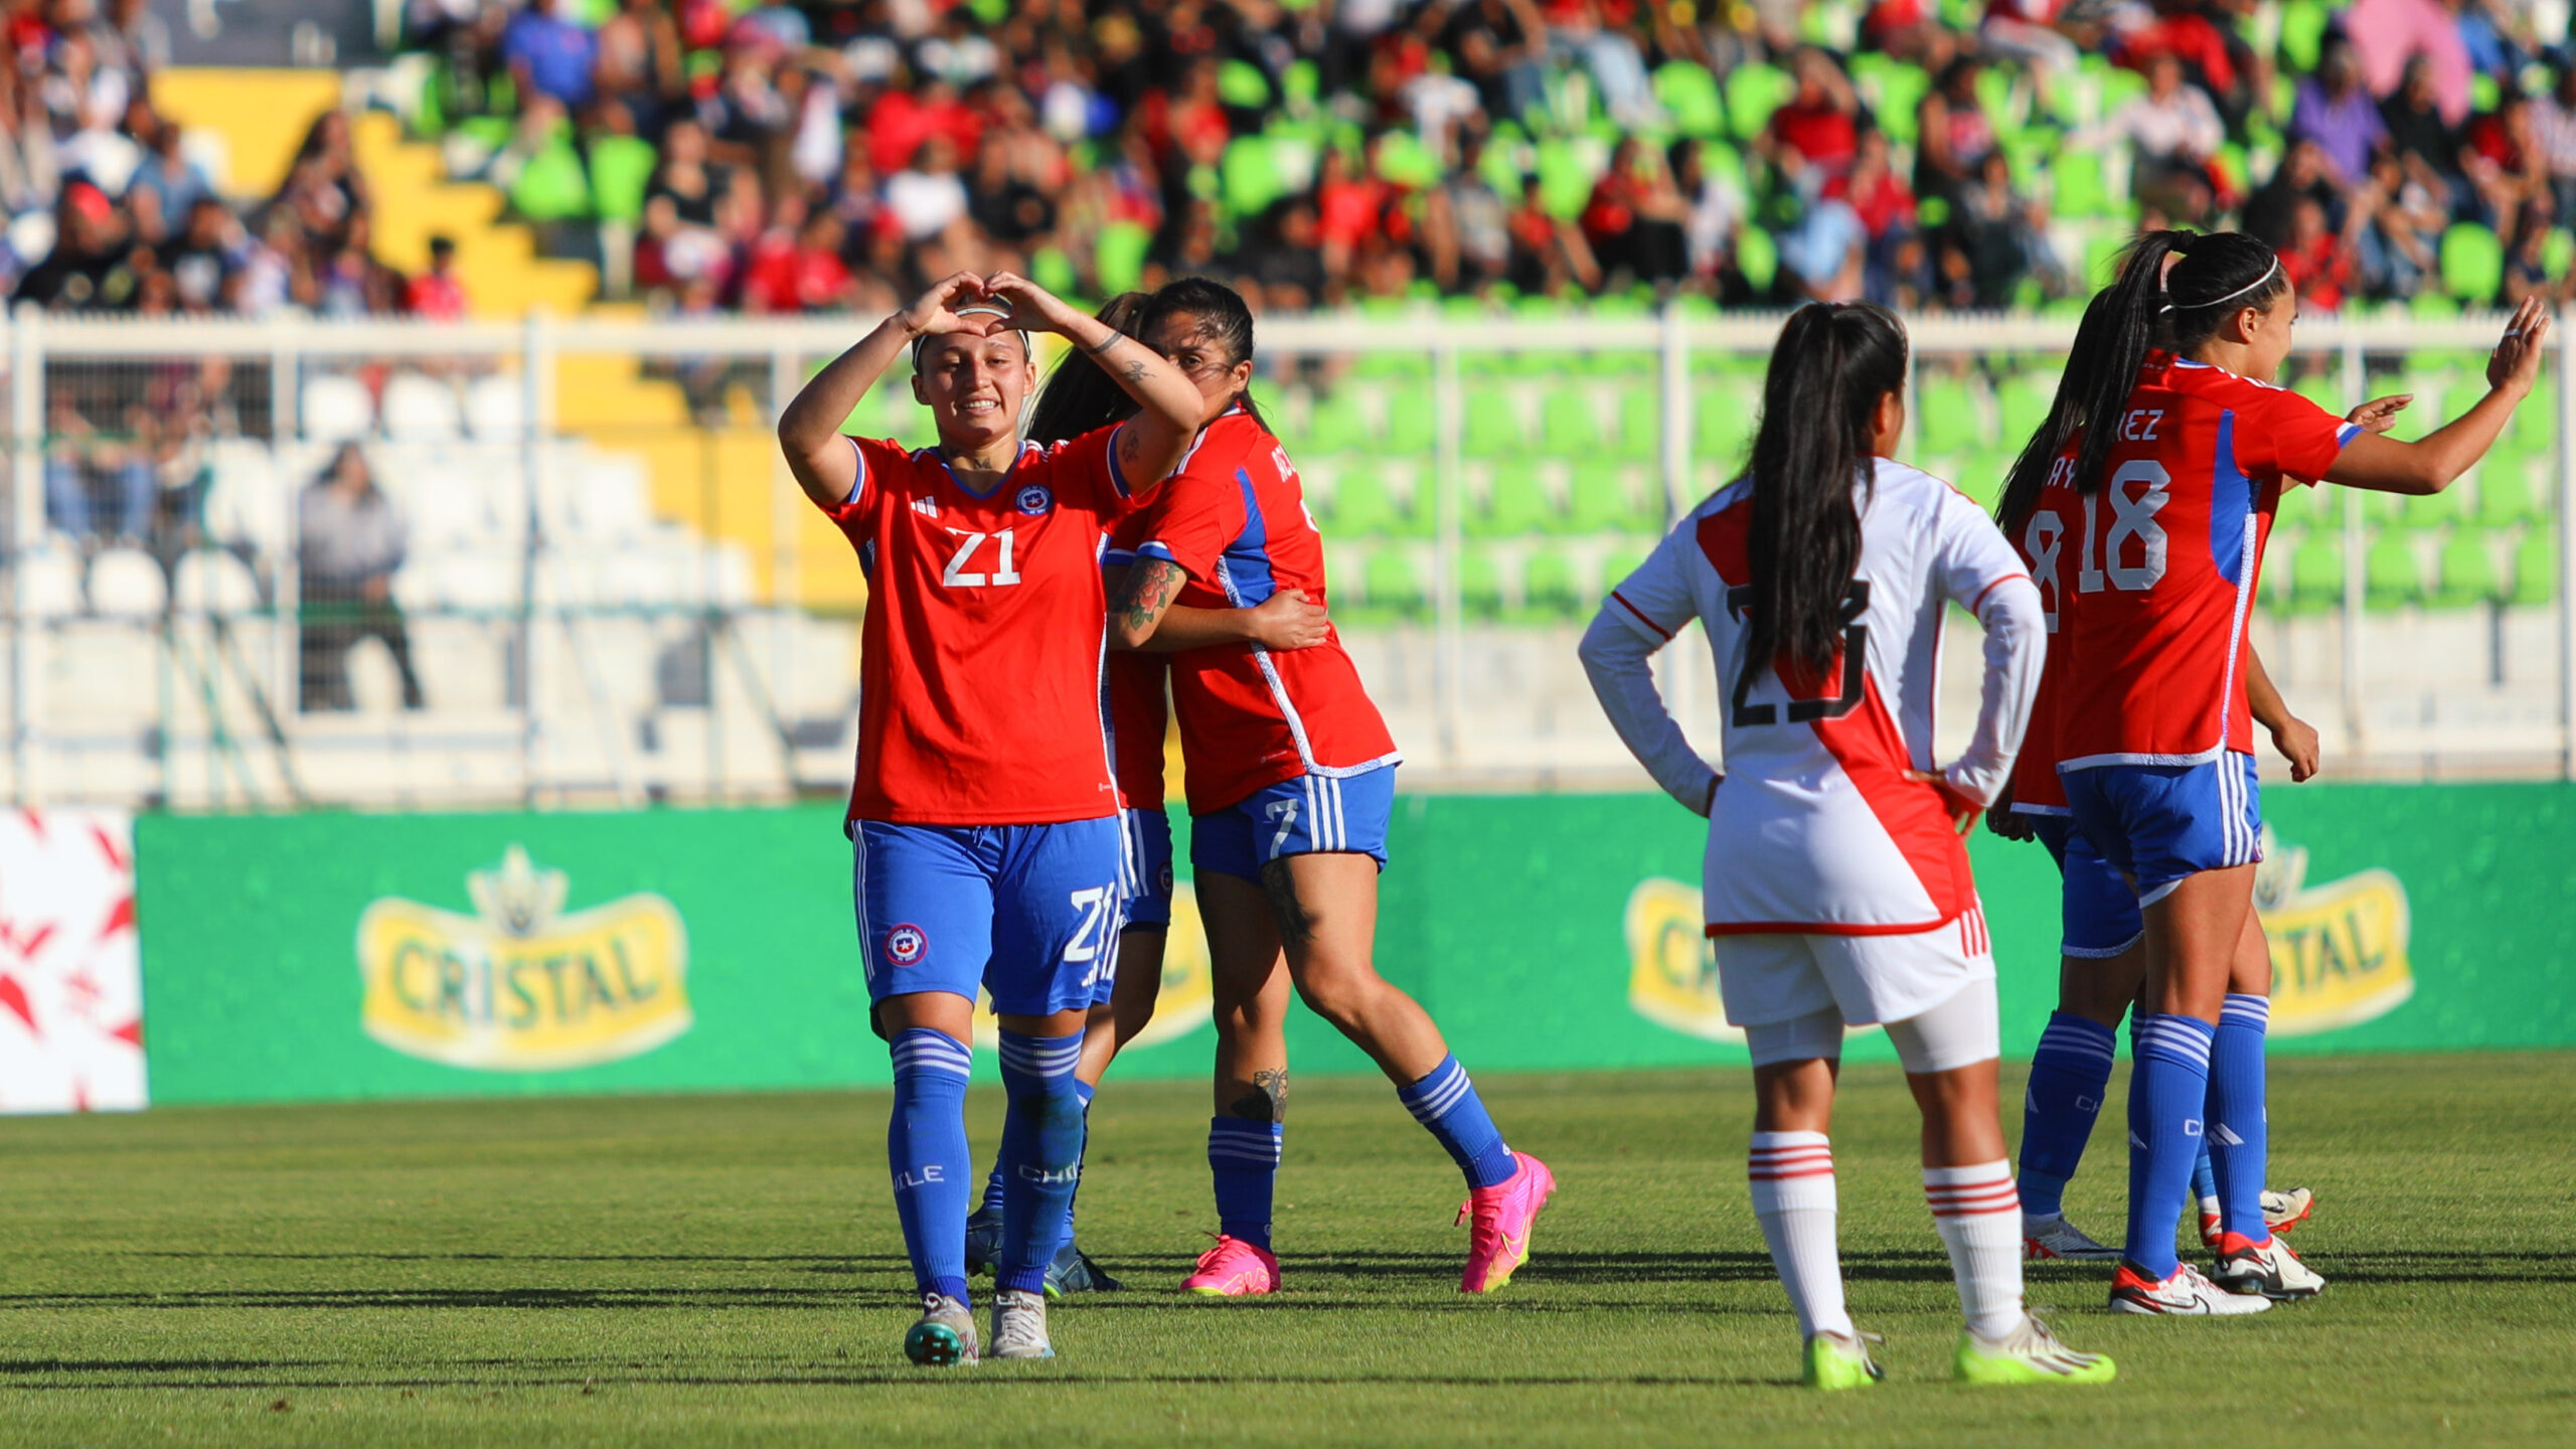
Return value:
M 1136 508 L 1115 428 L 1023 443 L 989 495 L 938 449 L 850 438 L 858 487 L 824 513 L 868 572 L 853 820 L 1054 825 L 1118 812 L 1100 660 L 1100 549 Z

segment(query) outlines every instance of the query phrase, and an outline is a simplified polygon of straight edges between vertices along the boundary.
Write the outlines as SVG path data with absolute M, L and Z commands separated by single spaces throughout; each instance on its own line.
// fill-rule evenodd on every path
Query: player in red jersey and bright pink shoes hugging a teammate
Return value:
M 1136 562 L 1110 608 L 1113 642 L 1164 650 L 1180 608 L 1247 608 L 1291 588 L 1324 603 L 1324 539 L 1288 451 L 1247 400 L 1244 299 L 1213 281 L 1175 281 L 1154 294 L 1144 338 L 1198 387 L 1203 433 L 1136 526 Z M 1208 1168 L 1224 1230 L 1185 1287 L 1208 1297 L 1278 1289 L 1270 1201 L 1293 982 L 1455 1158 L 1468 1183 L 1458 1217 L 1473 1217 L 1458 1292 L 1499 1289 L 1528 1258 L 1530 1222 L 1556 1178 L 1502 1142 L 1440 1029 L 1373 964 L 1399 755 L 1358 668 L 1329 632 L 1296 652 L 1185 647 L 1172 655 L 1172 709 L 1216 987 Z

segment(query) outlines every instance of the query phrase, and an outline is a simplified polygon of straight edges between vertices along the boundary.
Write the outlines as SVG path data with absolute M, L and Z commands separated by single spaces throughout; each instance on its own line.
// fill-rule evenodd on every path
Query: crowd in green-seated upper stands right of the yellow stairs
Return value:
M 451 168 L 677 312 L 881 309 L 1002 266 L 1270 309 L 2027 307 L 2141 222 L 2259 229 L 2339 307 L 2561 289 L 2563 10 L 2543 36 L 2506 0 L 415 0 L 410 39 Z

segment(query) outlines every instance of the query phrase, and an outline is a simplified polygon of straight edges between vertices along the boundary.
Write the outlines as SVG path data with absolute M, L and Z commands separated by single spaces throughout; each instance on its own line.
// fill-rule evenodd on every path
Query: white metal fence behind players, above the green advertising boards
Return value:
M 15 802 L 644 804 L 848 784 L 863 585 L 770 441 L 871 320 L 8 322 L 5 761 Z M 1270 320 L 1257 384 L 1316 495 L 1334 611 L 1432 786 L 1641 776 L 1571 645 L 1731 474 L 1775 317 Z M 2069 320 L 1914 327 L 1909 454 L 1991 498 Z M 2336 405 L 2458 413 L 2491 320 L 2316 320 Z M 2530 418 L 2429 505 L 2285 508 L 2257 647 L 2344 776 L 2566 776 L 2561 327 Z M 902 379 L 868 431 L 922 438 Z M 317 480 L 361 443 L 404 523 L 330 572 Z M 363 534 L 363 529 L 358 529 Z M 379 539 L 381 541 L 381 539 Z M 379 549 L 381 554 L 381 549 Z M 381 562 L 381 559 L 379 559 Z M 1968 655 L 1973 657 L 1973 652 Z M 1953 670 L 1963 673 L 1963 670 Z M 1667 676 L 1713 732 L 1705 657 Z M 1973 714 L 1950 681 L 1945 727 Z

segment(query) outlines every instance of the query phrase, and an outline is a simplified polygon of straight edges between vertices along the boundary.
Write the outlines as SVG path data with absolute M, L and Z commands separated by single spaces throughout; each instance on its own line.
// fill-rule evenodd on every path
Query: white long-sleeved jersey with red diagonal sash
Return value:
M 1940 624 L 1960 603 L 1986 627 L 1986 686 L 1968 753 L 1942 776 L 1986 804 L 2012 776 L 2040 686 L 2040 590 L 1958 490 L 1878 459 L 1862 492 L 1860 565 L 1834 668 L 1788 688 L 1747 660 L 1752 485 L 1698 505 L 1602 603 L 1584 668 L 1620 740 L 1656 784 L 1708 815 L 1708 933 L 1896 936 L 1976 908 L 1968 848 L 1932 771 Z M 1646 660 L 1692 619 L 1708 629 L 1726 709 L 1726 771 L 1682 737 Z

